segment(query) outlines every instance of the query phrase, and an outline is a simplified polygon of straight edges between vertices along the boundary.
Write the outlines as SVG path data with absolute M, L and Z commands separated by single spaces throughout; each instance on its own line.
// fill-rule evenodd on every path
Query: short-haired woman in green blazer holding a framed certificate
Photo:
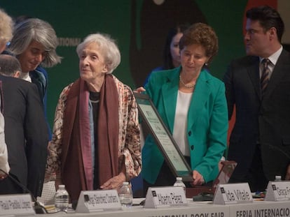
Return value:
M 218 40 L 207 24 L 193 24 L 181 38 L 181 66 L 152 73 L 146 93 L 172 133 L 193 171 L 193 186 L 213 181 L 226 149 L 228 109 L 225 86 L 207 66 Z M 153 137 L 142 149 L 144 192 L 149 186 L 172 186 L 175 177 Z

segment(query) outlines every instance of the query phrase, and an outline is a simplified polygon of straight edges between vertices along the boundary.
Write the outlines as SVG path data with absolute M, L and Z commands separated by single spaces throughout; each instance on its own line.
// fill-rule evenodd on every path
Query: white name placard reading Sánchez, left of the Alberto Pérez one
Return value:
M 117 190 L 82 190 L 78 197 L 77 213 L 107 209 L 122 209 Z

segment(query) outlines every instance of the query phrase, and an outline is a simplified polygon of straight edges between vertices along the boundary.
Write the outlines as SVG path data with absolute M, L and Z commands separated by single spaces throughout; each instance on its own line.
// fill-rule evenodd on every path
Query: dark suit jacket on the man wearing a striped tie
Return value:
M 263 170 L 268 180 L 284 177 L 290 163 L 290 54 L 282 51 L 261 97 L 258 57 L 243 57 L 230 63 L 224 77 L 229 117 L 236 106 L 236 121 L 230 135 L 228 160 L 235 160 L 233 176 L 244 177 L 261 144 Z

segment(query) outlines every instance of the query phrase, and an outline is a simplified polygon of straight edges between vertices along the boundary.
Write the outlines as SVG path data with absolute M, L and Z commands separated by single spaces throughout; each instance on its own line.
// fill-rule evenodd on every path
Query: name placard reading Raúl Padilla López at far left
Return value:
M 35 212 L 32 207 L 32 197 L 29 194 L 0 196 L 0 216 L 32 214 L 34 215 Z

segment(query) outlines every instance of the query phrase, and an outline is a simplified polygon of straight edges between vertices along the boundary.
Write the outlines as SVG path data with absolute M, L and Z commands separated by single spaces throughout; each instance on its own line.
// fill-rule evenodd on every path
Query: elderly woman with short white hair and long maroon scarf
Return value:
M 73 203 L 81 190 L 117 189 L 141 171 L 137 104 L 130 87 L 111 75 L 118 47 L 95 33 L 76 51 L 80 78 L 60 94 L 47 169 Z

